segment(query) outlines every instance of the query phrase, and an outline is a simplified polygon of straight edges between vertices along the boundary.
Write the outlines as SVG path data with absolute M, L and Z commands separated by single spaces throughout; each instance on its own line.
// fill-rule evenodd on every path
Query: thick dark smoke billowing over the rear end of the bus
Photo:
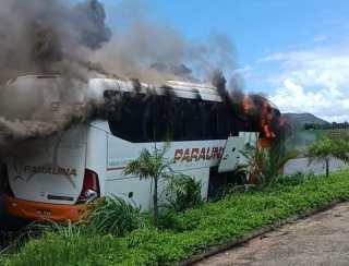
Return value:
M 0 146 L 53 134 L 93 112 L 86 81 L 104 72 L 88 57 L 111 38 L 97 0 L 0 3 Z M 61 78 L 20 78 L 59 74 Z M 52 106 L 56 105 L 56 106 Z M 3 149 L 3 148 L 2 148 Z

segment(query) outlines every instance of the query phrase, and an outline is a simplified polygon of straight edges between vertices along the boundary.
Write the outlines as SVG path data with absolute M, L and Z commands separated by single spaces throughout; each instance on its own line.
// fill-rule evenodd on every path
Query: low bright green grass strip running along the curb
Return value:
M 136 229 L 123 238 L 92 232 L 47 232 L 28 241 L 4 265 L 164 265 L 208 246 L 333 201 L 349 200 L 349 171 L 329 178 L 282 180 L 171 216 L 172 228 Z

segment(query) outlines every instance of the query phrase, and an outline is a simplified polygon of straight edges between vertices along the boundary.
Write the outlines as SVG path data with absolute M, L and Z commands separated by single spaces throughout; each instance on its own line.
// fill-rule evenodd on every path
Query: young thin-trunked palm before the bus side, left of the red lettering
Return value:
M 124 174 L 135 174 L 140 179 L 152 179 L 154 183 L 153 191 L 153 216 L 154 223 L 158 223 L 158 184 L 163 179 L 170 179 L 173 177 L 171 165 L 172 161 L 165 158 L 165 154 L 169 148 L 169 144 L 165 144 L 163 148 L 157 148 L 156 146 L 152 152 L 143 149 L 139 158 L 130 161 L 125 169 Z

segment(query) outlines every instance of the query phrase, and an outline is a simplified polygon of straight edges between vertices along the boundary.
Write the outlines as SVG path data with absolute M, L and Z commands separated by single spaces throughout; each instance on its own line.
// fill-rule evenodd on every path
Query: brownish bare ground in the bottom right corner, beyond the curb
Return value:
M 195 265 L 349 265 L 349 203 L 287 225 Z

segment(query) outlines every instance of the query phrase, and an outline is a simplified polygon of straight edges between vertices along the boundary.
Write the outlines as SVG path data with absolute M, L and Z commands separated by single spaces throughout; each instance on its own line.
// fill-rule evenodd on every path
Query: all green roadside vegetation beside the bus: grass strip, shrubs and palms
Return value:
M 227 191 L 215 202 L 203 202 L 201 183 L 176 174 L 164 157 L 166 148 L 143 150 L 124 171 L 152 179 L 155 186 L 166 181 L 164 205 L 159 204 L 158 190 L 153 190 L 151 214 L 116 196 L 100 198 L 89 205 L 81 222 L 29 227 L 24 242 L 0 255 L 0 265 L 173 264 L 254 229 L 349 200 L 349 170 L 328 177 L 284 177 L 280 169 L 297 154 L 275 146 L 268 150 L 251 147 L 244 153 L 248 165 L 239 169 L 239 174 L 254 177 L 256 185 Z M 349 149 L 345 150 L 339 153 L 341 159 Z M 313 155 L 323 159 L 317 153 Z

